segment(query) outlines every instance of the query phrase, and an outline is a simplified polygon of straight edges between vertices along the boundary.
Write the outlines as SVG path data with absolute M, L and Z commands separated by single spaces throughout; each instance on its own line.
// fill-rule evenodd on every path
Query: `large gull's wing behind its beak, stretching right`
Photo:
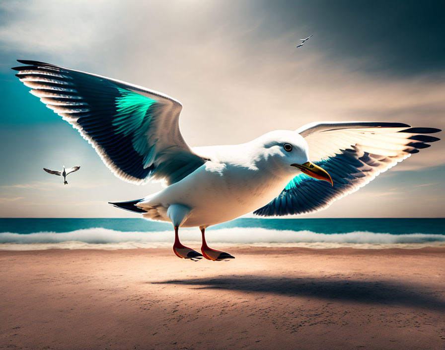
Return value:
M 297 132 L 309 146 L 309 158 L 331 175 L 333 186 L 305 174 L 292 179 L 272 202 L 256 210 L 262 216 L 310 213 L 365 186 L 375 176 L 439 139 L 433 128 L 401 123 L 319 122 Z

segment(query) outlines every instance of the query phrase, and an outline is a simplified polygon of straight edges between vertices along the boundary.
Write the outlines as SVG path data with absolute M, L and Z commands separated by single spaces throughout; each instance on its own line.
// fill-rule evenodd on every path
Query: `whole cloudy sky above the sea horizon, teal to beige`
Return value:
M 445 128 L 441 1 L 0 3 L 0 216 L 139 217 L 107 204 L 160 190 L 115 177 L 14 77 L 16 59 L 141 85 L 183 104 L 190 146 L 318 120 Z M 299 39 L 314 34 L 301 48 Z M 441 134 L 436 135 L 443 137 Z M 443 217 L 436 142 L 326 210 L 300 217 Z M 42 168 L 80 165 L 64 186 Z

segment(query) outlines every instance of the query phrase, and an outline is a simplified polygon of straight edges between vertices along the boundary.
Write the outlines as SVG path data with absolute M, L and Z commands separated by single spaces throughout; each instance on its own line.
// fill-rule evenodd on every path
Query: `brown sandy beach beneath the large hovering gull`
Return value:
M 0 349 L 445 349 L 445 248 L 227 251 L 0 251 Z

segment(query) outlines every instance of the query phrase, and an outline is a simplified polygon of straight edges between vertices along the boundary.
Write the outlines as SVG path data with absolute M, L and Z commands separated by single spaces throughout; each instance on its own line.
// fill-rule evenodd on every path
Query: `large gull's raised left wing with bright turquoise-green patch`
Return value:
M 18 62 L 16 76 L 31 93 L 76 128 L 118 177 L 168 184 L 205 160 L 179 131 L 182 105 L 145 87 L 36 61 Z

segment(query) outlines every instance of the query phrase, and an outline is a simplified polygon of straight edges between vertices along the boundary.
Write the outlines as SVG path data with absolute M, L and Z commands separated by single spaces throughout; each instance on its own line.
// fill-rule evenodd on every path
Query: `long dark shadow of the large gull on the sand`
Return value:
M 287 278 L 257 275 L 219 276 L 151 282 L 181 284 L 197 289 L 226 289 L 245 292 L 284 294 L 331 300 L 355 301 L 366 304 L 405 305 L 414 308 L 445 311 L 441 291 L 419 284 L 390 281 L 360 281 L 339 278 Z

